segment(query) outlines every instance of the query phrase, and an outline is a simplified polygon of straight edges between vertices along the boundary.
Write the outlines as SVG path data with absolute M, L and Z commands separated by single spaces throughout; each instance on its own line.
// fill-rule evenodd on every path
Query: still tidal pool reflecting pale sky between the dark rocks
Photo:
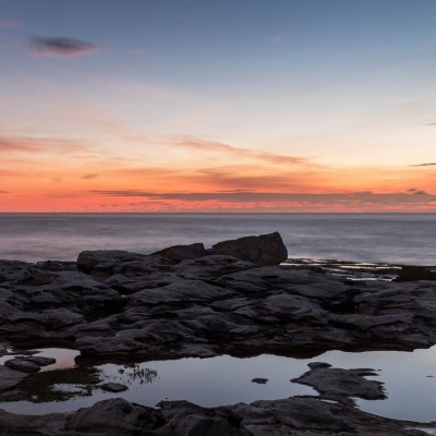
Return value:
M 75 365 L 74 358 L 78 354 L 75 350 L 39 350 L 40 353 L 36 355 L 52 356 L 57 363 L 43 368 L 41 373 L 32 376 L 32 382 L 28 380 L 31 385 L 38 386 L 33 392 L 31 388 L 33 401 L 1 402 L 0 408 L 14 413 L 45 414 L 73 411 L 114 397 L 149 407 L 166 399 L 214 407 L 316 395 L 314 389 L 291 383 L 290 379 L 306 372 L 310 362 L 327 362 L 342 368 L 373 368 L 379 374 L 368 378 L 385 384 L 388 399 L 358 400 L 362 410 L 386 417 L 436 421 L 436 347 L 413 352 L 328 351 L 313 359 L 268 354 L 246 359 L 221 355 L 124 365 L 104 364 L 90 368 Z M 0 364 L 9 359 L 10 355 L 0 358 Z M 254 383 L 254 378 L 265 378 L 267 382 Z M 43 379 L 46 379 L 46 384 L 40 382 Z M 125 385 L 128 390 L 107 392 L 101 389 L 105 383 Z M 47 387 L 60 395 L 43 395 Z

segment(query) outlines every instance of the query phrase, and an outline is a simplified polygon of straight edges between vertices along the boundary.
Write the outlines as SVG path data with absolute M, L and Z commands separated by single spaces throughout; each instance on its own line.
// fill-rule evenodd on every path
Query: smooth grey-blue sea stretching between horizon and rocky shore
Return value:
M 0 214 L 0 258 L 153 253 L 279 231 L 290 257 L 436 264 L 436 214 Z

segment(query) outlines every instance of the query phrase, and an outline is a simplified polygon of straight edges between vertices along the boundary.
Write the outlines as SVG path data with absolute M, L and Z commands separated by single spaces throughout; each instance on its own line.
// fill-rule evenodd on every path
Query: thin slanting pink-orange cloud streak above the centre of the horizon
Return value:
M 203 141 L 198 138 L 178 140 L 175 142 L 175 145 L 178 145 L 179 147 L 197 149 L 199 152 L 227 153 L 239 157 L 252 158 L 277 165 L 314 165 L 310 162 L 308 159 L 302 157 L 278 155 L 275 153 L 267 153 L 267 152 L 257 152 L 253 149 L 234 147 L 232 145 L 223 143 Z

